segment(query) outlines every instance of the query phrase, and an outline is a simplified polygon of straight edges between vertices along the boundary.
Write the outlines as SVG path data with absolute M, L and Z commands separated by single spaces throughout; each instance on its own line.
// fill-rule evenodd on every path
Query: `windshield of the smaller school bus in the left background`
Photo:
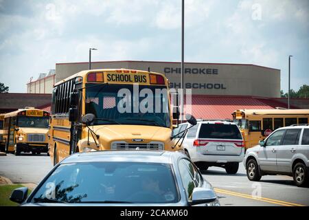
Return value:
M 48 128 L 49 117 L 19 116 L 17 118 L 17 126 L 19 126 L 19 127 L 34 127 L 34 128 Z

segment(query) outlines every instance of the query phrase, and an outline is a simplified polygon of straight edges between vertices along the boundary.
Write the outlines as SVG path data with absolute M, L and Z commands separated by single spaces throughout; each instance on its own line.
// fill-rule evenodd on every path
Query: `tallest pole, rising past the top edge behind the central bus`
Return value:
M 185 96 L 185 0 L 181 7 L 181 120 L 183 120 L 183 101 Z

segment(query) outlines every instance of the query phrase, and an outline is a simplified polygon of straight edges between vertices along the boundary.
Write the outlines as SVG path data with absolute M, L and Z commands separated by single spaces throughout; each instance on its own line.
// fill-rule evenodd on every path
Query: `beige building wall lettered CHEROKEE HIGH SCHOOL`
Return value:
M 170 87 L 180 87 L 180 63 L 110 61 L 91 63 L 91 69 L 141 69 L 165 74 Z M 56 64 L 56 82 L 88 69 L 88 63 Z M 185 63 L 186 88 L 197 95 L 280 97 L 280 70 L 257 65 Z M 50 91 L 52 92 L 52 91 Z

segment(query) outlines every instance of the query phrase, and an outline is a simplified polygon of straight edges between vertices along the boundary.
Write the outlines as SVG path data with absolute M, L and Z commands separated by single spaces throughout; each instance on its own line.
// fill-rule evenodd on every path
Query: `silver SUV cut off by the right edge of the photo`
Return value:
M 308 185 L 309 126 L 277 129 L 244 156 L 247 177 L 259 181 L 262 175 L 290 175 L 297 186 Z

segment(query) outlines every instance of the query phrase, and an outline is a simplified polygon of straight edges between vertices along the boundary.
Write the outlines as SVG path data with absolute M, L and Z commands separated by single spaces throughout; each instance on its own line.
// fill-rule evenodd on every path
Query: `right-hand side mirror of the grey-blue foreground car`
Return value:
M 217 196 L 211 188 L 196 187 L 192 192 L 191 206 L 216 201 Z

